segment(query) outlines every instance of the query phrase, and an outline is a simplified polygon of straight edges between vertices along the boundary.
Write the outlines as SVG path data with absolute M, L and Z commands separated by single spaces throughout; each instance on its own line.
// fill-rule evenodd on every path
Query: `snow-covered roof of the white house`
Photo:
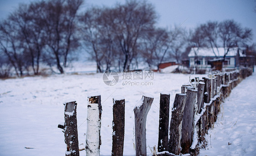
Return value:
M 223 47 L 220 48 L 191 48 L 189 52 L 189 57 L 195 57 L 195 53 L 197 56 L 205 56 L 205 57 L 215 57 L 215 54 L 219 57 L 224 56 L 225 54 L 225 49 Z M 238 48 L 232 48 L 229 50 L 228 54 L 226 56 L 236 56 L 237 55 L 237 50 Z M 239 50 L 239 55 L 244 56 L 242 53 L 242 50 Z

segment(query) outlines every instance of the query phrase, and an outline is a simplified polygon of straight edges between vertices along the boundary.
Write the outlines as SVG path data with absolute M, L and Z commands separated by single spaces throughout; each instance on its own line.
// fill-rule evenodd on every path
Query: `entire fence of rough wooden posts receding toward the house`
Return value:
M 231 72 L 213 72 L 200 80 L 191 80 L 191 84 L 181 86 L 181 94 L 176 94 L 169 123 L 170 94 L 160 94 L 158 156 L 175 156 L 190 154 L 197 156 L 199 149 L 205 146 L 205 134 L 213 126 L 220 112 L 220 103 L 229 96 L 231 90 L 244 78 L 252 74 L 251 68 Z M 143 95 L 134 107 L 135 151 L 136 156 L 146 156 L 146 120 L 154 97 Z M 76 101 L 70 100 L 65 105 L 65 123 L 58 127 L 63 129 L 66 156 L 79 156 Z M 100 156 L 101 146 L 101 96 L 88 96 L 87 156 Z M 112 156 L 123 156 L 124 141 L 123 96 L 113 98 L 113 145 Z M 201 145 L 201 147 L 200 147 Z

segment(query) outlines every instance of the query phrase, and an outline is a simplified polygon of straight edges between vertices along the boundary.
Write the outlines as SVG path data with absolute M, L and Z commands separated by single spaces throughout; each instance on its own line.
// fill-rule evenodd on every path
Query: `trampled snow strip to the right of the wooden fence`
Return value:
M 221 104 L 208 147 L 200 156 L 256 156 L 256 73 L 247 77 Z

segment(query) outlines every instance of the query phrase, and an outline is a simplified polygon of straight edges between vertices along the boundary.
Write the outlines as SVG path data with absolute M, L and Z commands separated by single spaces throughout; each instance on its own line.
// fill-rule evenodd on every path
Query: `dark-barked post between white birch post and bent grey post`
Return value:
M 113 136 L 112 156 L 123 156 L 124 141 L 124 111 L 125 100 L 123 96 L 113 97 Z

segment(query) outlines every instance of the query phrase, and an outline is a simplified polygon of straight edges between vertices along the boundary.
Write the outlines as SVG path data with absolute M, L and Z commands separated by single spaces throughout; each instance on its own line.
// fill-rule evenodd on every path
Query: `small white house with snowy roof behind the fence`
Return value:
M 214 52 L 213 52 L 214 51 Z M 211 67 L 210 61 L 214 59 L 223 59 L 224 48 L 191 48 L 189 52 L 189 66 L 200 65 Z M 225 56 L 223 67 L 233 68 L 239 65 L 239 56 L 245 56 L 239 48 L 229 50 Z

